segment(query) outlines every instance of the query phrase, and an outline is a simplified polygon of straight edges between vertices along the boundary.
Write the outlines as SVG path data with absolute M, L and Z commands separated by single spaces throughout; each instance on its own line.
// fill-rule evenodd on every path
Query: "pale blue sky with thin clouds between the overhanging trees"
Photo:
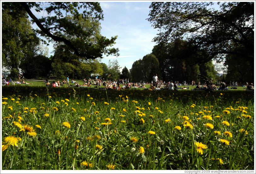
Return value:
M 102 63 L 116 59 L 120 67 L 129 70 L 134 61 L 150 54 L 156 43 L 152 39 L 157 29 L 146 20 L 151 2 L 100 2 L 104 20 L 101 33 L 107 38 L 118 35 L 114 47 L 119 48 L 119 57 L 104 56 Z

